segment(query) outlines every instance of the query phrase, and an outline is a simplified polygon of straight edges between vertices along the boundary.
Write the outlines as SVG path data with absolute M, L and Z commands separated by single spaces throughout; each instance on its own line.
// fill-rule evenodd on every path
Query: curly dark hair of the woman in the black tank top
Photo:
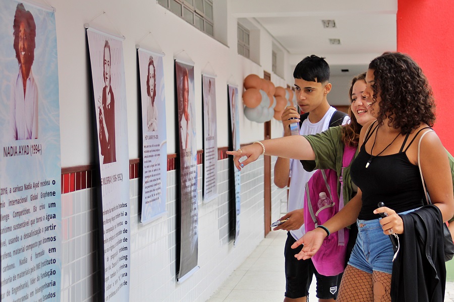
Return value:
M 421 67 L 407 54 L 385 52 L 373 59 L 373 101 L 380 96 L 377 120 L 388 119 L 388 125 L 411 133 L 421 122 L 433 126 L 435 104 L 432 89 Z

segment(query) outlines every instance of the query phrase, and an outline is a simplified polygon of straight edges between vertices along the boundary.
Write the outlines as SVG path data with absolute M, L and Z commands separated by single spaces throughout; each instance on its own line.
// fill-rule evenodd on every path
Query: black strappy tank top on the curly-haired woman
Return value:
M 380 201 L 397 213 L 424 205 L 422 200 L 424 189 L 419 167 L 410 163 L 406 154 L 415 137 L 423 129 L 418 131 L 405 150 L 404 146 L 410 133 L 405 137 L 399 153 L 374 157 L 366 169 L 366 163 L 371 156 L 366 152 L 365 144 L 376 129 L 377 126 L 370 133 L 366 133 L 366 139 L 350 168 L 352 181 L 363 193 L 363 204 L 358 219 L 364 220 L 380 217 L 373 213 Z

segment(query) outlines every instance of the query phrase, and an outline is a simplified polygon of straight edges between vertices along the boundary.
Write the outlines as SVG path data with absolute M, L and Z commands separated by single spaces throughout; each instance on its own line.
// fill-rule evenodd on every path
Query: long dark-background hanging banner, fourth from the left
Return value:
M 178 282 L 198 270 L 197 141 L 194 66 L 175 61 L 180 145 L 180 266 Z

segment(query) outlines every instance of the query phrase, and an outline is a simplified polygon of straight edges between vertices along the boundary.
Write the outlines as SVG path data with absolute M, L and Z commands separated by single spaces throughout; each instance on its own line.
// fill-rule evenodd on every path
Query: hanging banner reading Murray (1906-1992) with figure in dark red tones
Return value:
M 119 38 L 87 29 L 98 142 L 98 212 L 103 297 L 127 301 L 130 286 L 129 151 L 123 45 Z

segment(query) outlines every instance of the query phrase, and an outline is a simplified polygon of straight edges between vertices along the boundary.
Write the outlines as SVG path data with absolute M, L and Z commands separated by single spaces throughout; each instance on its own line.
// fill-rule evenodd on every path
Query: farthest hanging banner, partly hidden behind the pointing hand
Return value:
M 229 109 L 230 109 L 230 124 L 232 129 L 232 147 L 233 150 L 240 148 L 240 119 L 238 117 L 238 87 L 228 85 L 229 91 Z M 241 186 L 240 171 L 234 169 L 235 179 L 235 243 L 238 243 L 240 235 L 240 186 Z

